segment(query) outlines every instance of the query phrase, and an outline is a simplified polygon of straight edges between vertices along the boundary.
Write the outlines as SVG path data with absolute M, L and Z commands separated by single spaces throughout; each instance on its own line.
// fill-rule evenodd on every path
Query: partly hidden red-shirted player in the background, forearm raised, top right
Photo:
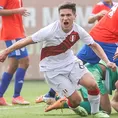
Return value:
M 112 0 L 100 0 L 100 2 L 94 6 L 92 14 L 88 18 L 88 23 L 98 22 L 115 4 Z

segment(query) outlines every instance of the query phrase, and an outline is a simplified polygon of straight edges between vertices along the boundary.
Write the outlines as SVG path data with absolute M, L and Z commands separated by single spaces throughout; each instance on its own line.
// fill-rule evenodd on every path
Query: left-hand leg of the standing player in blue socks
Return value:
M 6 41 L 6 46 L 9 47 L 12 45 L 11 41 Z M 0 85 L 0 105 L 8 105 L 5 98 L 3 97 L 5 91 L 7 90 L 10 81 L 13 77 L 14 72 L 18 67 L 18 61 L 14 55 L 15 53 L 12 52 L 8 55 L 8 66 L 6 71 L 3 73 L 1 78 L 1 85 Z

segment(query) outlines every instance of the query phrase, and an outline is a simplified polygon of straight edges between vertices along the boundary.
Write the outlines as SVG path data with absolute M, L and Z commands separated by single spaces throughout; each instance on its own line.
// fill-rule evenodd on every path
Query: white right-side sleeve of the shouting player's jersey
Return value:
M 93 38 L 89 35 L 88 32 L 86 32 L 82 27 L 79 26 L 79 36 L 80 40 L 84 42 L 86 45 L 93 44 L 95 41 Z

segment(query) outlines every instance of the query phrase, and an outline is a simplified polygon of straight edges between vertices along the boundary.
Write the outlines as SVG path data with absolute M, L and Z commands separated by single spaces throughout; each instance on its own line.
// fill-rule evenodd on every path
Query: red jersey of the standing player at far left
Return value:
M 22 0 L 0 0 L 0 8 L 2 9 L 16 9 L 20 7 L 22 7 Z M 2 16 L 0 39 L 13 40 L 23 37 L 25 37 L 25 35 L 22 16 L 20 14 Z

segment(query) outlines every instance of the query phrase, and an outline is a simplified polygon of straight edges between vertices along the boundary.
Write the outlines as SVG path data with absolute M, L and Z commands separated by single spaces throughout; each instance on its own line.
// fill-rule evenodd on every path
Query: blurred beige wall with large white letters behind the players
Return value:
M 23 0 L 24 7 L 27 7 L 31 13 L 29 17 L 24 18 L 24 26 L 26 28 L 26 34 L 31 35 L 40 28 L 50 24 L 58 19 L 57 7 L 65 0 Z M 70 0 L 66 0 L 70 1 Z M 88 16 L 91 14 L 91 10 L 94 4 L 100 0 L 71 0 L 77 4 L 77 18 L 76 22 L 85 28 L 90 30 L 92 25 L 87 23 Z M 118 1 L 118 0 L 114 0 Z M 1 20 L 0 20 L 1 24 Z M 76 53 L 82 46 L 81 42 L 77 43 L 73 50 Z M 0 42 L 0 50 L 4 49 L 4 43 Z M 27 80 L 43 80 L 43 74 L 39 72 L 39 58 L 40 58 L 41 44 L 28 46 L 30 55 L 30 67 L 28 68 L 26 79 Z M 2 72 L 6 69 L 7 60 L 4 63 L 0 63 L 0 78 Z

